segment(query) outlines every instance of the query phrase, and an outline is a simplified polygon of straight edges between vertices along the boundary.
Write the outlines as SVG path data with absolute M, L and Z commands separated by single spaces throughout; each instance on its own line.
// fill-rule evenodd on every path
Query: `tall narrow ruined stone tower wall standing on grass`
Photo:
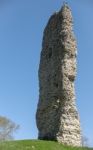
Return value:
M 39 66 L 38 138 L 81 146 L 76 108 L 76 40 L 69 6 L 54 13 L 44 30 Z

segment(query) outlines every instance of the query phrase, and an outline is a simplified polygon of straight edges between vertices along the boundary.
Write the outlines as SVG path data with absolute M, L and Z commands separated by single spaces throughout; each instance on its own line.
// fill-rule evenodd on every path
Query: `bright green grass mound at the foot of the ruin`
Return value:
M 0 150 L 93 150 L 93 148 L 77 148 L 51 141 L 20 140 L 0 142 Z

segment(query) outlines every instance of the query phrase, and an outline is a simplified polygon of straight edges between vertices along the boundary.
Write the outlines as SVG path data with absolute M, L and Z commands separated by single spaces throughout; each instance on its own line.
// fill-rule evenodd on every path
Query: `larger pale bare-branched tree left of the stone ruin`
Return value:
M 14 139 L 13 133 L 19 128 L 10 119 L 0 116 L 0 141 L 12 140 Z

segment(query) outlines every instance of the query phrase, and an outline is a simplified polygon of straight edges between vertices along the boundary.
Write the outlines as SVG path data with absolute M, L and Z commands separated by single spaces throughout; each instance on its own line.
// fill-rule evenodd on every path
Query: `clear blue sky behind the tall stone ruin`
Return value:
M 77 105 L 93 146 L 93 1 L 68 0 L 78 42 Z M 16 139 L 37 138 L 38 66 L 45 25 L 63 0 L 0 0 L 0 115 L 21 126 Z

